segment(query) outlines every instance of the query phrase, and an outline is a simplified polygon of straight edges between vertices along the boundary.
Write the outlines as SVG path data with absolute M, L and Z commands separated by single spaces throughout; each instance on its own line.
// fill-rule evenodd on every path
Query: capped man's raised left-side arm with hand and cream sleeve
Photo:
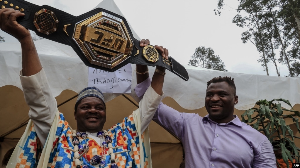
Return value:
M 57 103 L 51 93 L 30 31 L 16 21 L 18 17 L 24 15 L 14 9 L 0 9 L 0 28 L 18 39 L 21 44 L 22 71 L 20 79 L 26 103 L 30 108 L 29 118 L 34 123 L 41 143 L 45 144 L 55 112 L 57 112 Z

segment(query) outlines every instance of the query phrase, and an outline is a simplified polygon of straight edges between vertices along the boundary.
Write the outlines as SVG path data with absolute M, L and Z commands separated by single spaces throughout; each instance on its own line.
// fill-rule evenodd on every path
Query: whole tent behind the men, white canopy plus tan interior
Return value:
M 111 0 L 102 1 L 99 6 L 122 15 L 116 4 Z M 134 32 L 134 31 L 133 31 Z M 134 37 L 139 37 L 134 33 Z M 88 67 L 81 61 L 70 46 L 42 39 L 35 41 L 43 68 L 46 71 L 50 87 L 56 97 L 59 110 L 66 115 L 67 121 L 76 127 L 73 117 L 74 97 L 76 93 L 88 86 Z M 235 85 L 239 102 L 235 108 L 246 110 L 252 108 L 257 100 L 283 98 L 289 100 L 292 106 L 300 103 L 299 77 L 273 77 L 264 75 L 239 74 L 208 70 L 185 66 L 190 79 L 184 81 L 173 73 L 167 72 L 164 83 L 164 93 L 167 97 L 164 103 L 181 112 L 194 112 L 201 116 L 206 114 L 204 106 L 206 83 L 213 77 L 231 76 Z M 20 138 L 28 118 L 28 106 L 22 95 L 19 71 L 22 69 L 21 47 L 19 43 L 0 44 L 0 162 L 5 152 Z M 132 72 L 135 65 L 132 65 Z M 150 76 L 154 67 L 149 67 Z M 135 73 L 132 76 L 132 86 L 128 99 L 137 102 L 133 88 L 136 85 Z M 18 89 L 19 88 L 19 89 Z M 105 94 L 107 103 L 107 122 L 105 129 L 122 118 L 128 116 L 137 106 L 128 103 L 121 94 Z M 172 99 L 170 99 L 171 97 Z M 73 99 L 72 99 L 73 98 Z M 177 104 L 177 103 L 178 104 Z M 118 106 L 116 106 L 116 104 Z M 282 105 L 290 109 L 288 105 Z M 201 109 L 202 108 L 202 109 Z M 200 109 L 200 110 L 199 110 Z M 237 114 L 240 116 L 240 114 Z M 110 120 L 110 118 L 112 118 Z M 150 124 L 150 140 L 152 142 L 153 165 L 163 167 L 179 167 L 182 160 L 182 147 L 179 140 L 168 134 L 155 123 Z M 2 138 L 2 139 L 1 139 Z M 4 138 L 4 139 L 3 139 Z M 169 153 L 166 154 L 166 151 Z M 167 161 L 166 159 L 172 159 Z M 159 167 L 157 166 L 157 167 Z M 155 167 L 155 166 L 154 166 Z

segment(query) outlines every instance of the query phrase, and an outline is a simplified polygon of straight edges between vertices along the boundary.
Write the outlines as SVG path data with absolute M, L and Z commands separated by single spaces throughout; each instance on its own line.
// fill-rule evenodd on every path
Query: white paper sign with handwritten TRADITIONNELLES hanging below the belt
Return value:
M 88 87 L 95 86 L 104 93 L 131 93 L 131 64 L 115 72 L 88 68 Z

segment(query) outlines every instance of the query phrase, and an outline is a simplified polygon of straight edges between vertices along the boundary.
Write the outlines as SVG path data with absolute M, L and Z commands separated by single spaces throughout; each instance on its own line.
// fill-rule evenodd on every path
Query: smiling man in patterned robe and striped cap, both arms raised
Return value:
M 20 79 L 31 119 L 7 168 L 152 167 L 149 136 L 144 131 L 161 101 L 162 85 L 151 85 L 146 91 L 150 92 L 149 97 L 140 101 L 139 109 L 108 130 L 103 129 L 106 106 L 102 92 L 95 87 L 85 88 L 79 92 L 75 104 L 77 130 L 72 129 L 64 115 L 58 112 L 29 30 L 16 21 L 24 15 L 13 9 L 0 9 L 1 29 L 16 37 L 21 44 Z M 140 42 L 141 47 L 148 44 L 149 40 Z M 157 45 L 155 48 L 163 51 Z M 157 77 L 161 78 L 153 75 L 153 79 Z

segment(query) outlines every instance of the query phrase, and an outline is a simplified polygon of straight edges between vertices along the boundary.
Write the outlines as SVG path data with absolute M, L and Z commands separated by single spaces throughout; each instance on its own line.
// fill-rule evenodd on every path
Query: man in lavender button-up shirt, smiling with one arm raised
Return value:
M 147 66 L 137 65 L 137 72 L 146 70 Z M 155 73 L 164 77 L 163 72 Z M 163 85 L 161 81 L 155 83 Z M 138 74 L 137 83 L 135 91 L 142 98 L 151 83 L 149 74 Z M 182 141 L 185 168 L 276 168 L 267 137 L 233 115 L 237 103 L 233 79 L 215 77 L 207 83 L 205 117 L 178 112 L 161 102 L 153 120 Z

